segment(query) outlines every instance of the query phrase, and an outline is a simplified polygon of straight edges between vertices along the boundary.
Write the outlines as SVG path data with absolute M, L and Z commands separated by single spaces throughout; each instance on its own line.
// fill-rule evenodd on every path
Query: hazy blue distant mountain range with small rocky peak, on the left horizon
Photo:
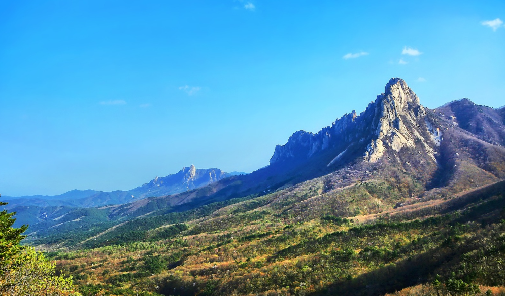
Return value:
M 150 182 L 131 190 L 71 190 L 54 196 L 2 196 L 2 200 L 9 202 L 6 206 L 7 209 L 12 209 L 17 206 L 97 207 L 111 204 L 124 204 L 151 196 L 166 196 L 181 193 L 206 186 L 223 178 L 244 174 L 246 173 L 226 173 L 217 168 L 196 169 L 194 165 L 191 165 L 189 167 L 184 167 L 175 174 L 165 177 L 156 177 Z

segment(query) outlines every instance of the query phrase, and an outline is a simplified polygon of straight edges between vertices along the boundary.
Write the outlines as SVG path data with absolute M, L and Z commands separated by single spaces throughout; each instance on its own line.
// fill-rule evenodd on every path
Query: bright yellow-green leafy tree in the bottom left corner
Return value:
M 72 276 L 55 276 L 55 263 L 41 251 L 24 248 L 13 257 L 11 265 L 0 267 L 0 295 L 80 296 Z

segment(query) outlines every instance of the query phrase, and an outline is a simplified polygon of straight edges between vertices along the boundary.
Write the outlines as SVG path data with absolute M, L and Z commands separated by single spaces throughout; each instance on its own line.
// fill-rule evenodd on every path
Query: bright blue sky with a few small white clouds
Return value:
M 401 77 L 505 105 L 505 2 L 3 1 L 0 193 L 250 172 Z

